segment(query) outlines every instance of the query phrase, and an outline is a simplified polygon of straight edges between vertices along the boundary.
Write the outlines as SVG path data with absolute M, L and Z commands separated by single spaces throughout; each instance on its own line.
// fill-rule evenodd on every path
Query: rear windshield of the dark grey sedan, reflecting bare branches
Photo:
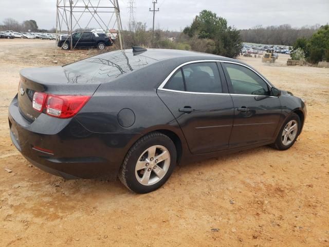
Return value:
M 116 78 L 156 62 L 155 59 L 119 50 L 65 65 L 65 70 L 96 78 Z

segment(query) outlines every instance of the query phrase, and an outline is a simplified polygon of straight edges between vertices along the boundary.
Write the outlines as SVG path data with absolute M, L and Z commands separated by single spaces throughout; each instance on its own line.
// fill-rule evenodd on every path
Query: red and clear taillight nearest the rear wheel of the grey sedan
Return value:
M 69 118 L 76 115 L 91 96 L 53 95 L 35 92 L 33 109 L 42 112 L 46 108 L 49 116 Z

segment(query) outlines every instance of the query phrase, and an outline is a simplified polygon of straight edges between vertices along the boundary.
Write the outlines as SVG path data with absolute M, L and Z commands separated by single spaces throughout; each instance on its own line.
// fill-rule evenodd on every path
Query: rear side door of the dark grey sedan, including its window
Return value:
M 176 118 L 193 154 L 228 148 L 233 102 L 219 63 L 188 63 L 177 68 L 157 91 Z

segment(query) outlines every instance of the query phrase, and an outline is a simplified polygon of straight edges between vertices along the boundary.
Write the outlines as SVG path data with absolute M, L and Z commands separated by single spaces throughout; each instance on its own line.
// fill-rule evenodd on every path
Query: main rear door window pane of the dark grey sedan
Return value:
M 182 67 L 186 91 L 222 93 L 222 83 L 215 62 L 192 63 Z

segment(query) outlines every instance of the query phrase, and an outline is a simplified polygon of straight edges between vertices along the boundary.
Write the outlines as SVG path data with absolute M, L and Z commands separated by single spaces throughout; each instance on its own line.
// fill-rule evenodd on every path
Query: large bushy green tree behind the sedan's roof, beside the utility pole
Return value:
M 192 24 L 183 32 L 189 37 L 197 36 L 199 39 L 213 40 L 215 43 L 213 54 L 235 58 L 242 49 L 240 32 L 228 26 L 226 19 L 209 10 L 203 10 L 195 16 Z

